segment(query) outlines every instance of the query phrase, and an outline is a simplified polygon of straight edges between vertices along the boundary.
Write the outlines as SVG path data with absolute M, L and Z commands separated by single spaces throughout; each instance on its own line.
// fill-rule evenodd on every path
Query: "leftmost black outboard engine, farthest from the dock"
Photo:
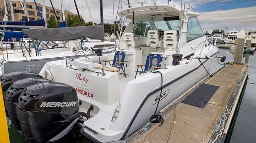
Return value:
M 21 71 L 15 71 L 3 74 L 1 76 L 1 85 L 2 85 L 2 92 L 3 92 L 3 98 L 5 98 L 7 89 L 11 86 L 11 84 L 14 81 L 25 79 L 25 78 L 33 78 L 33 77 L 40 77 L 42 76 L 38 75 L 37 73 L 31 73 L 31 72 L 21 72 Z M 9 117 L 7 111 L 6 116 Z

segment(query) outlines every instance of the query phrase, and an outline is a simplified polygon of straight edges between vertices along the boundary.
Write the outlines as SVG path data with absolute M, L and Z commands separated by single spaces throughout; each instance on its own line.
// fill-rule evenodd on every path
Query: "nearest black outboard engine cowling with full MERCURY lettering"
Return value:
M 18 99 L 17 118 L 23 135 L 30 143 L 61 140 L 79 116 L 76 90 L 67 84 L 33 84 Z

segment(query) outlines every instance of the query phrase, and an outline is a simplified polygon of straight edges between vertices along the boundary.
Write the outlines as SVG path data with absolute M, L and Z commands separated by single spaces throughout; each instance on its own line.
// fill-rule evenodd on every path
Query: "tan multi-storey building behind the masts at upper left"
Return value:
M 9 5 L 9 0 L 6 0 L 7 5 Z M 22 2 L 23 5 L 23 2 Z M 25 17 L 23 6 L 21 5 L 20 1 L 15 0 L 12 1 L 13 11 L 14 11 L 14 17 L 16 21 L 20 21 Z M 37 3 L 39 11 L 43 17 L 43 5 L 41 3 Z M 35 3 L 33 2 L 26 2 L 27 7 L 27 16 L 29 20 L 39 20 L 41 19 L 40 14 L 38 13 L 38 10 L 35 6 Z M 0 8 L 3 8 L 3 0 L 0 0 Z M 60 9 L 55 8 L 55 12 L 57 14 L 57 19 L 55 17 L 54 11 L 52 7 L 46 6 L 46 18 L 47 21 L 49 20 L 50 16 L 54 16 L 56 20 L 59 22 L 63 21 L 62 17 L 62 11 Z M 73 14 L 70 11 L 65 11 L 65 17 L 67 19 L 67 14 L 70 14 L 71 17 L 75 16 L 76 14 Z M 0 21 L 3 20 L 3 17 L 0 17 Z

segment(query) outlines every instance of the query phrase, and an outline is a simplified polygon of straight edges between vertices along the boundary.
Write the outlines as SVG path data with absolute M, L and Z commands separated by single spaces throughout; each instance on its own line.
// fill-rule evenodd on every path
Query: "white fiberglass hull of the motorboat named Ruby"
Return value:
M 216 47 L 210 48 L 201 57 L 205 55 L 213 56 L 217 51 L 218 48 Z M 97 57 L 93 58 L 90 59 L 90 62 L 97 61 Z M 106 57 L 103 56 L 101 59 L 106 59 Z M 189 64 L 185 64 L 185 62 L 189 62 L 189 60 L 182 61 L 176 67 L 170 65 L 166 69 L 159 70 L 163 73 L 164 88 L 157 111 L 166 107 L 207 76 L 206 70 L 197 59 L 190 61 Z M 201 59 L 201 62 L 209 71 L 211 60 Z M 47 63 L 40 74 L 42 76 L 46 75 L 46 70 L 48 69 L 53 81 L 66 83 L 76 88 L 78 98 L 82 101 L 81 111 L 86 112 L 90 105 L 95 107 L 95 110 L 92 111 L 93 117 L 84 121 L 82 132 L 90 140 L 95 142 L 123 140 L 147 123 L 151 115 L 154 114 L 157 99 L 160 95 L 160 73 L 144 73 L 141 76 L 137 76 L 137 79 L 132 79 L 127 83 L 123 94 L 119 95 L 120 101 L 116 99 L 115 101 L 117 102 L 103 105 L 98 103 L 96 98 L 98 96 L 99 100 L 108 100 L 104 99 L 108 96 L 107 94 L 114 95 L 118 91 L 116 89 L 118 82 L 120 82 L 118 81 L 118 74 L 113 73 L 113 75 L 110 75 L 111 73 L 106 72 L 106 76 L 101 77 L 95 76 L 95 72 L 79 71 L 77 70 L 79 67 L 73 68 L 76 68 L 76 70 L 67 68 L 64 61 L 55 61 Z M 100 70 L 95 71 L 100 72 Z M 63 78 L 65 75 L 68 75 L 68 77 Z M 108 81 L 111 84 L 106 83 L 105 78 L 113 77 L 116 77 L 114 81 Z M 81 83 L 81 81 L 83 82 Z M 109 87 L 112 91 L 111 93 L 105 93 L 106 95 L 101 93 L 101 91 Z M 116 118 L 111 122 L 111 117 L 117 106 L 119 112 L 115 114 Z

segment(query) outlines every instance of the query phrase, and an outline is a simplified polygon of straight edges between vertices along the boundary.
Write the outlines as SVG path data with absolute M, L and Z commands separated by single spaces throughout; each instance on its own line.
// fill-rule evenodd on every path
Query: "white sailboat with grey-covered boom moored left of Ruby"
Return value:
M 83 31 L 85 29 L 91 30 L 93 28 L 98 30 L 95 30 L 95 33 L 91 34 L 87 34 Z M 55 28 L 53 32 L 55 33 L 57 31 L 58 34 L 65 35 L 65 37 L 63 36 L 64 38 L 62 36 L 52 36 L 52 34 L 49 33 L 52 29 L 29 29 L 27 31 L 30 32 L 29 34 L 33 33 L 38 36 L 38 31 L 41 30 L 46 31 L 43 33 L 41 32 L 41 34 L 44 35 L 44 39 L 42 39 L 43 36 L 39 36 L 39 39 L 37 40 L 43 42 L 52 38 L 55 39 L 55 41 L 67 41 L 69 38 L 72 39 L 75 36 L 78 39 L 89 36 L 90 38 L 98 39 L 99 37 L 99 39 L 104 40 L 103 28 L 100 25 L 65 28 L 65 33 L 62 31 L 63 28 Z M 75 34 L 72 33 L 74 30 L 77 31 Z M 49 36 L 52 36 L 52 38 L 49 38 Z M 83 42 L 82 40 L 71 40 L 69 42 L 65 42 L 64 46 L 61 46 L 60 48 L 55 47 L 44 50 L 44 48 L 41 48 L 41 45 L 44 44 L 39 45 L 38 41 L 34 40 L 32 45 L 36 46 L 30 46 L 30 48 L 1 50 L 1 74 L 17 70 L 39 73 L 46 62 L 60 60 L 64 56 L 68 56 L 70 58 L 92 56 L 94 55 L 92 50 L 95 48 L 102 48 L 103 53 L 109 53 L 115 47 L 115 42 L 105 42 L 101 40 L 99 40 L 100 42 Z

